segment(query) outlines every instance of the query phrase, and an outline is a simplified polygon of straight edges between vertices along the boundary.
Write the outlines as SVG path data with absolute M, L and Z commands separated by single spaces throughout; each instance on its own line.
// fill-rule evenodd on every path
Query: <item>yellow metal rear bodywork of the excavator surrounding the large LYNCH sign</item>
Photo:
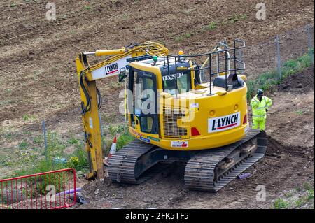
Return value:
M 207 90 L 204 93 L 209 94 Z M 223 91 L 221 87 L 214 87 L 214 93 L 220 91 Z M 247 87 L 246 85 L 244 85 L 244 87 L 233 89 L 232 91 L 226 92 L 226 94 L 221 96 L 219 96 L 218 94 L 214 94 L 212 96 L 209 96 L 207 94 L 193 93 L 179 94 L 179 97 L 181 97 L 182 95 L 184 98 L 193 99 L 191 101 L 186 101 L 186 108 L 190 108 L 190 103 L 192 102 L 197 103 L 199 106 L 198 109 L 195 106 L 194 108 L 189 109 L 189 115 L 186 115 L 186 118 L 188 118 L 188 122 L 183 122 L 183 120 L 181 119 L 176 120 L 176 125 L 178 127 L 188 127 L 187 136 L 167 138 L 164 131 L 165 124 L 163 122 L 163 115 L 160 115 L 161 137 L 159 141 L 151 140 L 150 143 L 152 143 L 153 145 L 158 145 L 161 148 L 165 148 L 167 150 L 206 150 L 239 141 L 241 138 L 244 138 L 244 136 L 246 136 L 246 129 L 248 129 L 248 122 L 243 124 L 244 116 L 247 114 L 246 92 Z M 160 108 L 163 108 L 163 106 L 165 105 L 169 106 L 169 108 L 172 109 L 178 108 L 178 104 L 174 106 L 173 97 L 160 101 Z M 240 125 L 238 127 L 225 131 L 209 133 L 209 118 L 224 117 L 225 115 L 230 115 L 238 112 L 240 113 Z M 196 127 L 200 132 L 200 136 L 190 136 L 190 127 Z M 147 134 L 139 132 L 138 129 L 132 129 L 130 132 L 138 138 L 139 136 L 137 136 L 137 134 L 141 134 L 142 137 L 147 136 Z M 172 147 L 172 141 L 182 141 L 188 143 L 188 147 Z

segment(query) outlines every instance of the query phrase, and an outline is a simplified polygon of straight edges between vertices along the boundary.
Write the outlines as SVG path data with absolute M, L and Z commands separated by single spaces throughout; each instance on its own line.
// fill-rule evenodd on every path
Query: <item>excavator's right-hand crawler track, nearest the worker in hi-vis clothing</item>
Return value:
M 220 164 L 230 154 L 241 149 L 246 143 L 256 141 L 256 150 L 243 159 L 239 160 L 223 173 L 218 174 Z M 245 171 L 256 161 L 261 159 L 267 149 L 267 138 L 265 131 L 251 129 L 247 136 L 237 143 L 226 145 L 221 148 L 205 150 L 196 154 L 185 168 L 185 186 L 191 190 L 202 190 L 207 192 L 218 192 L 240 173 Z M 246 154 L 245 154 L 246 155 Z

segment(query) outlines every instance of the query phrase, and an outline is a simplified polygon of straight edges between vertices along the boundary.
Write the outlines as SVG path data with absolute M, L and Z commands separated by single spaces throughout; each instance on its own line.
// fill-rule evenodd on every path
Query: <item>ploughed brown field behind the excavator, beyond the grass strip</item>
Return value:
M 42 118 L 57 130 L 80 128 L 74 64 L 80 51 L 150 40 L 165 43 L 172 52 L 204 52 L 222 39 L 243 38 L 253 45 L 314 20 L 313 1 L 266 3 L 267 19 L 258 21 L 254 1 L 59 0 L 57 20 L 48 21 L 45 1 L 1 1 L 1 129 L 38 131 Z M 246 19 L 233 20 L 239 15 Z M 218 27 L 204 30 L 211 22 Z M 178 39 L 185 34 L 191 37 Z M 99 82 L 106 105 L 102 114 L 109 120 L 118 115 L 116 100 L 122 86 L 116 82 L 116 78 Z M 25 122 L 23 115 L 34 119 Z

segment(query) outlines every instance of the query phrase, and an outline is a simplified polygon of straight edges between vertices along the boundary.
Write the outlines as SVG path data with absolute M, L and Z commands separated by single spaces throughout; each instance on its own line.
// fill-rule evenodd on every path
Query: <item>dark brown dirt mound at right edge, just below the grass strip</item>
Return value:
M 314 66 L 297 73 L 290 75 L 283 80 L 278 86 L 282 92 L 303 93 L 314 90 Z

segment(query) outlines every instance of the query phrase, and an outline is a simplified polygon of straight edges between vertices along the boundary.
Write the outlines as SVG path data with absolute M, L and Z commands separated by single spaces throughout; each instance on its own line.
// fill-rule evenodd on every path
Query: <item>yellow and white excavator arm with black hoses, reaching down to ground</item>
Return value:
M 76 68 L 81 95 L 81 114 L 85 133 L 85 150 L 90 164 L 87 180 L 104 178 L 101 127 L 99 108 L 102 99 L 97 89 L 96 80 L 120 75 L 120 80 L 126 76 L 128 65 L 132 61 L 148 59 L 153 55 L 166 56 L 168 50 L 164 45 L 154 42 L 130 44 L 116 50 L 97 50 L 81 52 L 76 58 Z M 90 66 L 89 56 L 107 56 L 103 62 Z

